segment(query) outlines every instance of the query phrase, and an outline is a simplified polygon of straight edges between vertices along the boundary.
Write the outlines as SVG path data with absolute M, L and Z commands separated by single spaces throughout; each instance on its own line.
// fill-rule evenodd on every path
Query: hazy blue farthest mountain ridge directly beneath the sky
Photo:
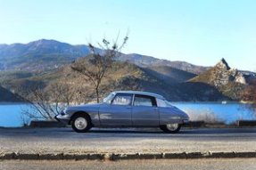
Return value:
M 59 68 L 89 53 L 87 45 L 69 45 L 46 39 L 29 44 L 0 45 L 0 70 L 45 71 Z M 169 66 L 194 74 L 209 69 L 185 61 L 167 61 L 136 53 L 121 54 L 117 60 L 129 61 L 140 67 Z

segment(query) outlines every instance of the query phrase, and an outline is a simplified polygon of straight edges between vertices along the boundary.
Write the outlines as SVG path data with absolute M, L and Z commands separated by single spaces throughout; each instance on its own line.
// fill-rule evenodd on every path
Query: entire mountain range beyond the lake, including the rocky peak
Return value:
M 87 45 L 45 39 L 0 45 L 0 85 L 10 93 L 22 93 L 33 85 L 47 90 L 49 85 L 63 81 L 80 85 L 70 63 L 89 53 Z M 170 101 L 237 101 L 249 80 L 255 78 L 255 73 L 230 69 L 225 59 L 213 67 L 203 67 L 137 53 L 122 53 L 110 72 L 103 81 L 103 95 L 113 90 L 142 90 L 160 93 Z M 92 86 L 84 84 L 85 98 L 93 99 Z

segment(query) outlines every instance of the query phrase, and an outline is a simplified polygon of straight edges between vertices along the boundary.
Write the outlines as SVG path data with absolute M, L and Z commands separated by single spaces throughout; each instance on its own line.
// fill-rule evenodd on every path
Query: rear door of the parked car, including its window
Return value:
M 135 94 L 132 122 L 134 126 L 159 126 L 159 113 L 154 97 Z

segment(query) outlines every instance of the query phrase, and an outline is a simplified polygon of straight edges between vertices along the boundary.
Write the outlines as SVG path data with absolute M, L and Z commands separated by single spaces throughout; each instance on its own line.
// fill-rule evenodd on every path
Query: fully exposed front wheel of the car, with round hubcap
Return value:
M 92 127 L 92 123 L 87 114 L 79 113 L 72 117 L 71 126 L 77 133 L 86 133 Z

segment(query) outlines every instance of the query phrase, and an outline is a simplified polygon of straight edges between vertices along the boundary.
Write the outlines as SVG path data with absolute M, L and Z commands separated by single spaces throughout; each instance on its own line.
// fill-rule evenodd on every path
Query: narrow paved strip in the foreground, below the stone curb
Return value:
M 73 169 L 175 169 L 175 170 L 254 170 L 256 158 L 233 159 L 161 159 L 161 160 L 121 160 L 121 161 L 0 161 L 3 170 L 73 170 Z

